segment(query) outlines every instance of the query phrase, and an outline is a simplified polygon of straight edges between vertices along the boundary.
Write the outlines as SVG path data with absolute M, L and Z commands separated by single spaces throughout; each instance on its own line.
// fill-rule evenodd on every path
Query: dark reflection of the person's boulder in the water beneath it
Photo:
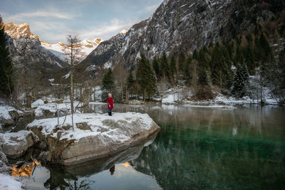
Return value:
M 142 141 L 142 144 L 138 144 L 135 147 L 125 149 L 123 152 L 110 155 L 102 159 L 95 159 L 83 164 L 73 165 L 69 167 L 48 167 L 50 171 L 50 178 L 44 183 L 44 186 L 49 189 L 91 189 L 90 185 L 95 182 L 90 179 L 86 179 L 86 176 L 93 176 L 100 171 L 108 169 L 110 174 L 115 172 L 115 164 L 124 163 L 125 167 L 128 167 L 129 160 L 133 160 L 139 157 L 144 144 L 152 142 L 156 137 L 153 134 L 149 139 Z

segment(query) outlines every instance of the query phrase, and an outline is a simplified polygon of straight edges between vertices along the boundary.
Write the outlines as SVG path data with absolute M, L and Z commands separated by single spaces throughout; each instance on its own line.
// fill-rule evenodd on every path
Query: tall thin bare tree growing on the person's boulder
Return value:
M 76 65 L 78 65 L 79 60 L 82 58 L 84 55 L 82 51 L 82 44 L 80 43 L 79 37 L 78 36 L 72 36 L 68 35 L 66 37 L 67 44 L 63 46 L 63 52 L 67 56 L 67 61 L 70 64 L 70 97 L 71 97 L 71 120 L 72 120 L 72 125 L 73 125 L 73 114 L 74 114 L 74 107 L 73 107 L 73 102 L 74 102 L 74 84 L 73 84 L 73 73 L 74 73 L 74 68 Z

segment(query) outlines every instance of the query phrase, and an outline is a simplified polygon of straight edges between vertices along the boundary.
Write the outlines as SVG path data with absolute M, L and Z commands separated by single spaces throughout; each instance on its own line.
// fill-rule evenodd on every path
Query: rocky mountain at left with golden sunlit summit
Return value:
M 28 23 L 7 23 L 4 25 L 4 31 L 7 34 L 8 46 L 14 63 L 23 62 L 25 56 L 28 63 L 48 63 L 48 68 L 63 68 L 68 65 L 41 46 L 38 36 L 31 33 Z

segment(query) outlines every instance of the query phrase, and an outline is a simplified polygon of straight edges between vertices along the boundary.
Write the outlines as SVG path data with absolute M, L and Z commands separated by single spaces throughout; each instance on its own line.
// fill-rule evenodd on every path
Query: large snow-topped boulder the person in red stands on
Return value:
M 80 164 L 108 157 L 140 144 L 160 130 L 147 115 L 114 113 L 113 117 L 75 114 L 67 117 L 34 120 L 27 130 L 48 144 L 48 161 L 63 165 Z

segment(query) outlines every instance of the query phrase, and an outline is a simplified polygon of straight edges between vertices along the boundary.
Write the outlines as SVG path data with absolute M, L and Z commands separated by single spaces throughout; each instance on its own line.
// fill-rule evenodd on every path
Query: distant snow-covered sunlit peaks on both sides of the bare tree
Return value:
M 102 40 L 100 38 L 94 38 L 93 40 L 88 40 L 87 38 L 85 38 L 83 41 L 81 41 L 81 47 L 84 53 L 82 59 L 86 58 L 86 56 L 88 56 L 91 51 L 97 48 L 97 46 L 101 42 Z M 55 44 L 51 44 L 46 41 L 41 41 L 41 46 L 43 46 L 43 48 L 46 48 L 48 51 L 51 51 L 51 53 L 53 53 L 58 58 L 61 58 L 61 60 L 65 60 L 66 55 L 62 51 L 64 44 L 61 41 Z

